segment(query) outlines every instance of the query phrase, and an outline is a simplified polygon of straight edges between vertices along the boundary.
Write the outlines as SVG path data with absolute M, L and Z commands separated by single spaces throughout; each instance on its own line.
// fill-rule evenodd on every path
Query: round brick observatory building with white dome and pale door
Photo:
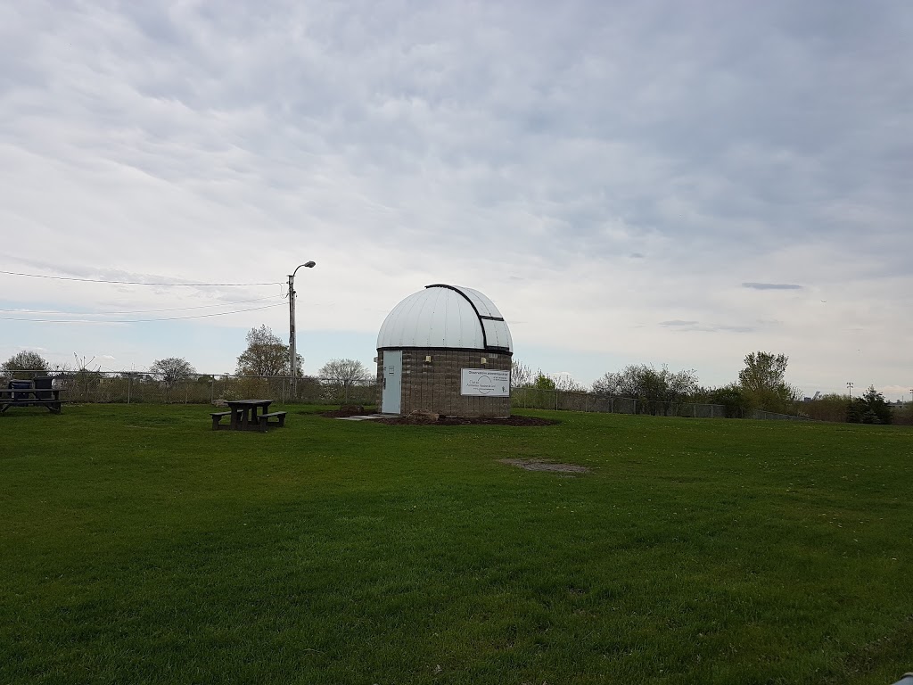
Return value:
M 383 414 L 510 416 L 508 324 L 478 290 L 437 283 L 394 307 L 377 334 Z

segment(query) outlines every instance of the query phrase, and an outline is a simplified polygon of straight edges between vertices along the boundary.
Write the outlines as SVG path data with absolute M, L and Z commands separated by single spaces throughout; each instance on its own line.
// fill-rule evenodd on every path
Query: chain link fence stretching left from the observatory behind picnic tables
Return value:
M 374 405 L 377 383 L 373 378 L 341 382 L 333 378 L 304 376 L 296 379 L 292 396 L 289 376 L 196 374 L 174 381 L 144 372 L 20 371 L 18 379 L 50 376 L 61 399 L 98 404 L 212 404 L 218 400 L 263 397 L 281 404 Z M 6 387 L 12 376 L 0 377 Z

